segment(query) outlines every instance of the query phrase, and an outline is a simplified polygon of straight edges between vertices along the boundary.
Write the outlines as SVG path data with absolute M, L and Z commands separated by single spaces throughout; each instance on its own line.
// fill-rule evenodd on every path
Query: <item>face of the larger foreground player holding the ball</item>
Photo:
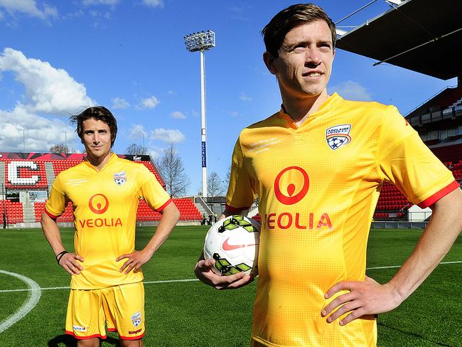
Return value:
M 286 33 L 278 58 L 265 55 L 265 63 L 278 78 L 283 95 L 302 98 L 327 95 L 335 50 L 331 29 L 325 21 L 296 26 Z

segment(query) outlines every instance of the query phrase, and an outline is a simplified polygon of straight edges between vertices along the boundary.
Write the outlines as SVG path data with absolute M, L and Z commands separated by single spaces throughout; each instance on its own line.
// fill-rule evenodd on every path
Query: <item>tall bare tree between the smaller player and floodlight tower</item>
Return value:
M 167 192 L 171 198 L 186 196 L 186 189 L 189 186 L 189 178 L 186 176 L 183 161 L 173 144 L 163 150 L 163 156 L 156 161 L 157 169 L 165 180 Z

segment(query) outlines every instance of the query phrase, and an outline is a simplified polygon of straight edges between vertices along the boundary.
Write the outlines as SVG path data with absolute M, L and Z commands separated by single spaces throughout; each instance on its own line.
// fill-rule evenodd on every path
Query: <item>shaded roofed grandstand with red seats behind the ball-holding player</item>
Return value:
M 388 63 L 442 80 L 457 78 L 458 85 L 436 93 L 405 117 L 461 184 L 462 68 L 458 43 L 462 41 L 462 1 L 386 2 L 389 11 L 348 32 L 338 31 L 337 48 L 372 58 L 376 60 L 373 65 Z M 384 183 L 372 225 L 405 227 L 415 223 L 424 227 L 430 215 L 430 208 L 421 210 L 407 201 L 398 188 Z

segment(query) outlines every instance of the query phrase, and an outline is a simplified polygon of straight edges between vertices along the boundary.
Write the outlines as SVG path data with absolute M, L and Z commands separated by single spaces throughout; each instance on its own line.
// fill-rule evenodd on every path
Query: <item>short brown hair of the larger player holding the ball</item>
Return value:
M 276 14 L 263 28 L 262 35 L 267 52 L 271 53 L 274 58 L 279 57 L 279 48 L 289 31 L 303 23 L 319 20 L 325 21 L 331 29 L 332 45 L 335 48 L 335 23 L 321 7 L 308 3 L 287 7 Z

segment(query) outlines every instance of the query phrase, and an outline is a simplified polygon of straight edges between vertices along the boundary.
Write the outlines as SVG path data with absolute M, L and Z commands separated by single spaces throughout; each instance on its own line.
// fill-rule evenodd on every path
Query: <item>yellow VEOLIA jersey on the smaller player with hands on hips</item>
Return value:
M 61 172 L 53 182 L 45 212 L 51 218 L 64 213 L 72 201 L 75 252 L 84 258 L 83 271 L 72 275 L 72 289 L 99 289 L 143 280 L 142 272 L 119 272 L 134 251 L 139 198 L 161 211 L 171 198 L 146 166 L 112 154 L 97 171 L 88 161 Z

